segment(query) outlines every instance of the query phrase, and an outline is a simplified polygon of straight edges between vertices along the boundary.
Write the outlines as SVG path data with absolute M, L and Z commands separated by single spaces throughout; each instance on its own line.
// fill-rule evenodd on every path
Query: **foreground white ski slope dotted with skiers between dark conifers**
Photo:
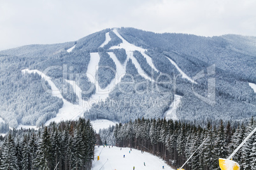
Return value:
M 164 160 L 152 154 L 144 152 L 141 154 L 140 150 L 119 147 L 95 147 L 94 160 L 92 162 L 92 170 L 160 170 L 162 166 L 164 169 L 171 170 Z M 100 154 L 100 155 L 99 155 Z M 99 160 L 97 156 L 99 155 Z M 124 158 L 125 155 L 125 158 Z M 144 162 L 146 166 L 144 166 Z

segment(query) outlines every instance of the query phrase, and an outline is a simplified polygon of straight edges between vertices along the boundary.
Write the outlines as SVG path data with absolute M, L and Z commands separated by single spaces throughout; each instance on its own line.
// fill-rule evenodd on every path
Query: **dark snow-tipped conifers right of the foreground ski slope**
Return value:
M 118 147 L 132 147 L 162 157 L 168 164 L 181 167 L 190 159 L 185 169 L 218 169 L 218 158 L 227 158 L 256 126 L 253 119 L 245 125 L 220 121 L 218 126 L 210 122 L 206 128 L 189 122 L 166 119 L 136 119 L 134 122 L 117 124 L 113 130 Z M 108 131 L 112 131 L 109 128 Z M 101 131 L 103 133 L 104 131 Z M 102 135 L 101 135 L 102 136 Z M 111 136 L 111 134 L 108 134 Z M 103 140 L 106 140 L 102 136 Z M 256 168 L 256 134 L 254 134 L 233 157 L 240 169 Z

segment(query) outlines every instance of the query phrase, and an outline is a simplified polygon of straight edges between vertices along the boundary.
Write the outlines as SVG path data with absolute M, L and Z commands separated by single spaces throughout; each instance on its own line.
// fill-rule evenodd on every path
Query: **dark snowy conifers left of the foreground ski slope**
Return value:
M 1 139 L 1 138 L 0 138 Z M 3 139 L 2 139 L 3 140 Z M 10 131 L 0 152 L 1 169 L 90 169 L 96 137 L 90 121 L 66 121 Z

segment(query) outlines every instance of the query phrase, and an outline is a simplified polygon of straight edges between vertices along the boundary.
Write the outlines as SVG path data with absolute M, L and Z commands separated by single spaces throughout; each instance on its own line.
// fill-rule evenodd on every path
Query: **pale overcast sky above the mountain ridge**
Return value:
M 256 36 L 256 1 L 0 0 L 0 50 L 76 41 L 112 27 Z

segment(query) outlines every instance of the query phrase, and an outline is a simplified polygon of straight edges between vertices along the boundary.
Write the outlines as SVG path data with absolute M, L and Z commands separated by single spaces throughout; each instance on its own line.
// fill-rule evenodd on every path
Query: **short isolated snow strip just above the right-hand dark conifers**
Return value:
M 178 120 L 176 115 L 176 110 L 179 107 L 182 96 L 174 95 L 174 101 L 171 103 L 169 109 L 166 111 L 165 117 L 166 120 L 173 119 L 174 121 Z

